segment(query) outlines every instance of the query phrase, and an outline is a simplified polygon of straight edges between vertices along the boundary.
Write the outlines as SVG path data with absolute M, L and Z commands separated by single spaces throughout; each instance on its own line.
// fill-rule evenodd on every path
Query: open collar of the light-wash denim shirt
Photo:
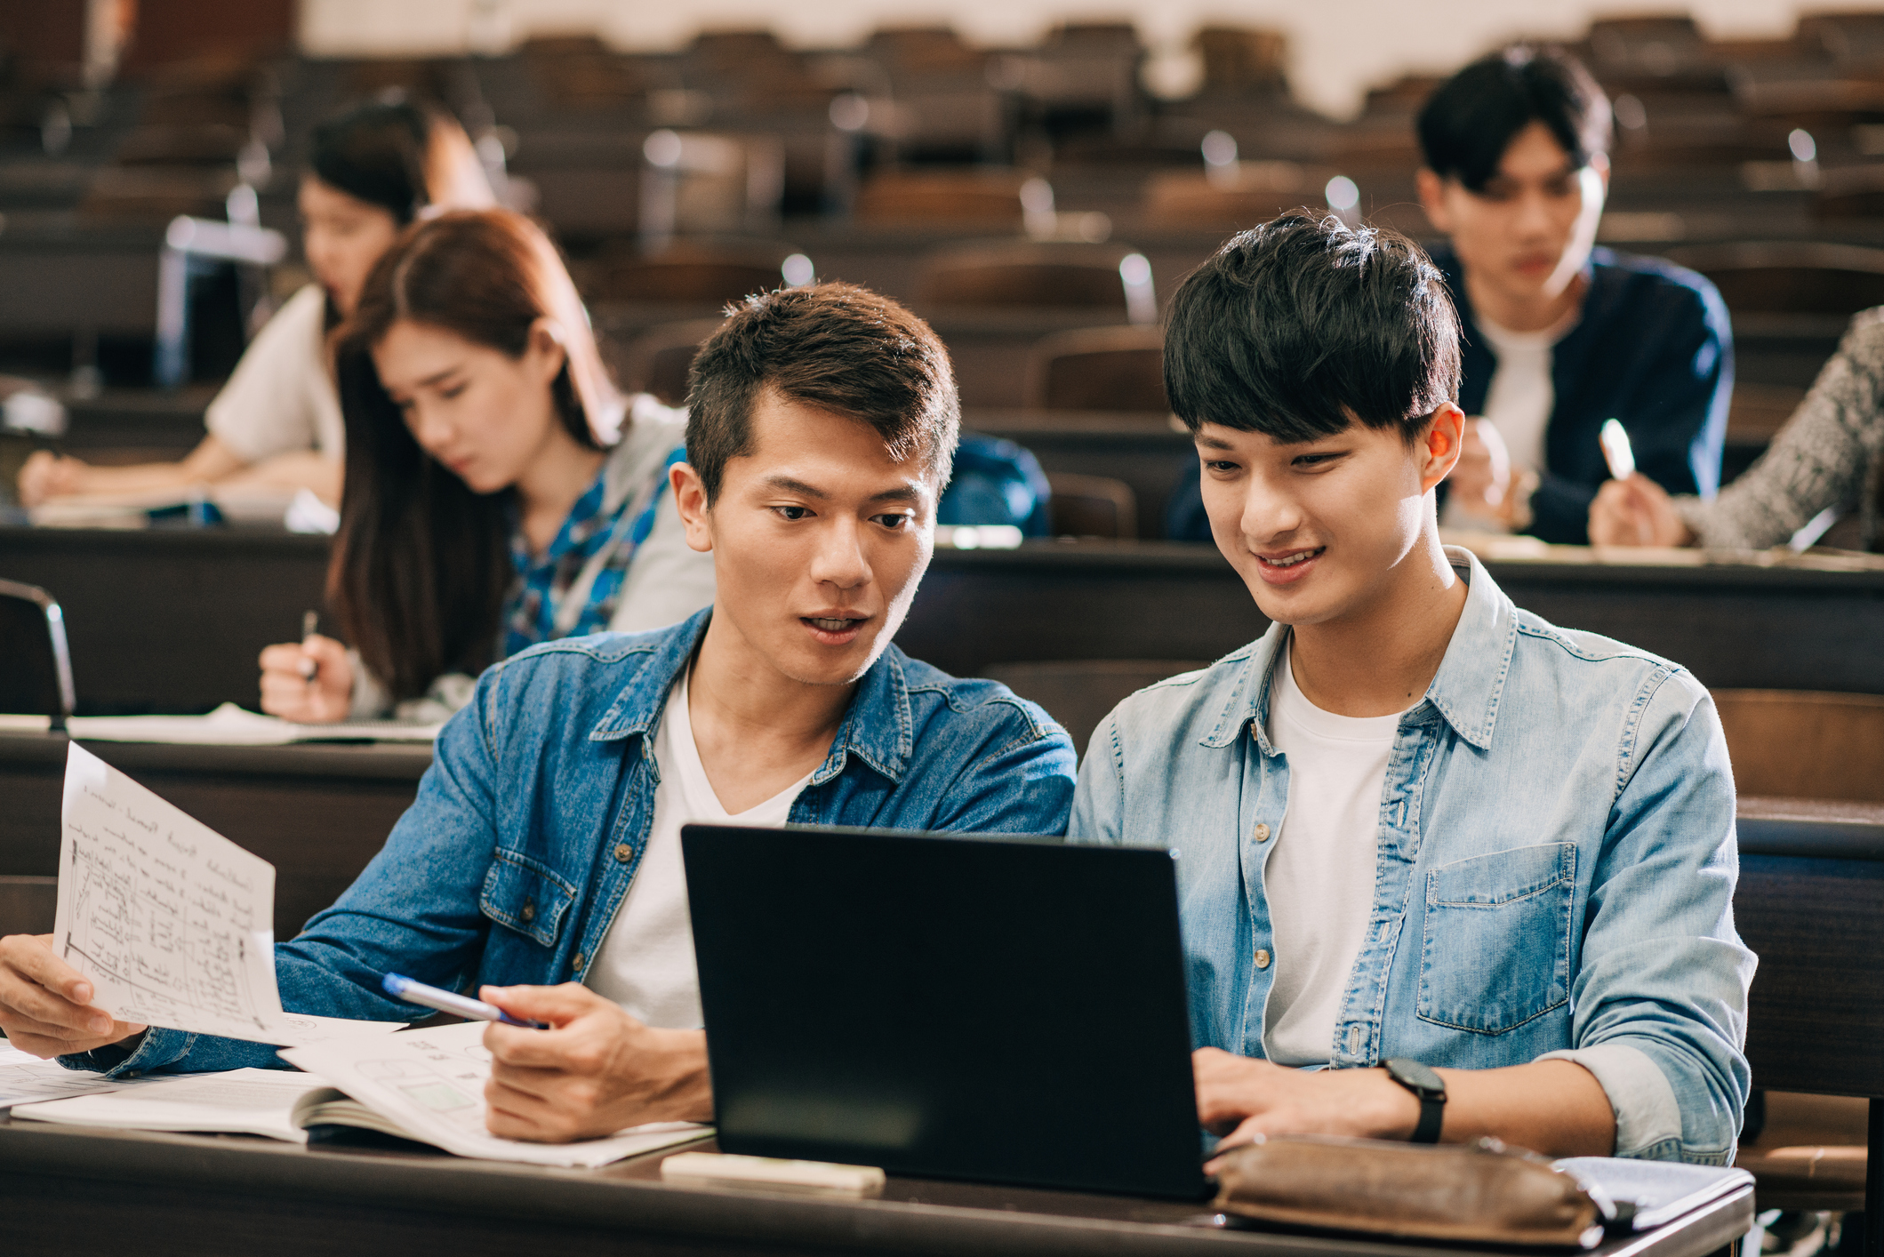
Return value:
M 1490 750 L 1498 699 L 1505 690 L 1511 652 L 1519 639 L 1517 609 L 1471 550 L 1445 547 L 1445 554 L 1466 580 L 1466 607 L 1453 628 L 1453 641 L 1445 646 L 1439 671 L 1426 686 L 1424 701 L 1407 714 L 1417 720 L 1422 709 L 1430 707 L 1462 739 L 1479 750 Z M 1230 746 L 1243 727 L 1249 727 L 1262 754 L 1275 754 L 1268 733 L 1270 678 L 1287 631 L 1287 624 L 1270 624 L 1262 637 L 1243 646 L 1249 661 L 1230 690 L 1223 716 L 1202 741 L 1204 746 Z

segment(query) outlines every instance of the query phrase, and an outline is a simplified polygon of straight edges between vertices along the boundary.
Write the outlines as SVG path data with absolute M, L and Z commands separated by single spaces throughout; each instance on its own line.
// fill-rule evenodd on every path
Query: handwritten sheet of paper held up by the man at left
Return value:
M 398 1025 L 283 1012 L 273 916 L 275 865 L 77 743 L 66 750 L 53 950 L 92 980 L 94 1004 L 266 1044 Z

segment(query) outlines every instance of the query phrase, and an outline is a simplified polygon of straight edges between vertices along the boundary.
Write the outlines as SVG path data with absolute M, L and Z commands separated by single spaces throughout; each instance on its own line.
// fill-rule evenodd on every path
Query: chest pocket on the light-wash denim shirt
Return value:
M 1419 1018 L 1503 1035 L 1569 1001 L 1577 844 L 1549 842 L 1426 874 Z

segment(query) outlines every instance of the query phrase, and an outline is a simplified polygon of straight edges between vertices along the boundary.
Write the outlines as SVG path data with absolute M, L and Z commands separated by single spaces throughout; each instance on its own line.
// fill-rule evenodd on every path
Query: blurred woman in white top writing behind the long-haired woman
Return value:
M 343 426 L 326 335 L 352 315 L 367 271 L 424 209 L 495 204 L 463 128 L 411 104 L 367 104 L 315 130 L 301 179 L 301 247 L 315 283 L 268 320 L 209 403 L 209 435 L 173 464 L 92 467 L 38 452 L 19 473 L 24 505 L 68 494 L 192 484 L 311 488 L 339 501 Z

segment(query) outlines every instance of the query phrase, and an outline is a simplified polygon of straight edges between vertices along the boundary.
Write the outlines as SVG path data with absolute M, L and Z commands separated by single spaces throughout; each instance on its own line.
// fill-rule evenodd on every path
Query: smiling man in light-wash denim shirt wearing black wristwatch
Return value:
M 1098 726 L 1070 835 L 1178 850 L 1204 1125 L 1730 1161 L 1754 955 L 1720 722 L 1441 547 L 1437 269 L 1277 219 L 1179 288 L 1164 373 L 1274 624 Z

